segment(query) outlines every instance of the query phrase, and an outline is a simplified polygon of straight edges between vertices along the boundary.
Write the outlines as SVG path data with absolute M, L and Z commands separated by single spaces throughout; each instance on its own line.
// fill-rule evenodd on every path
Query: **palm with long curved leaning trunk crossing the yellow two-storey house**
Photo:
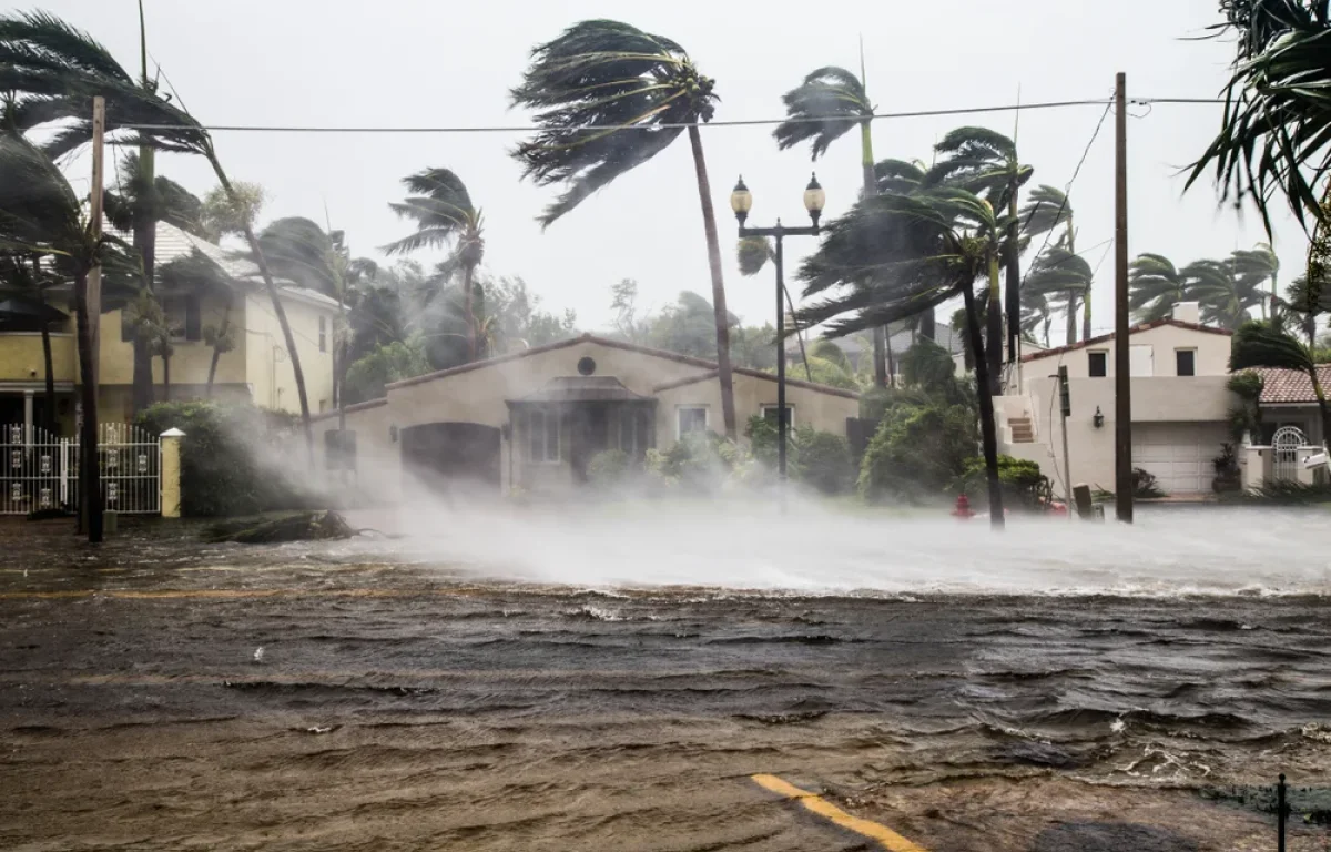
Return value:
M 142 35 L 142 33 L 141 33 Z M 141 41 L 141 52 L 146 48 Z M 146 63 L 146 60 L 145 60 Z M 101 96 L 106 103 L 105 129 L 109 136 L 132 129 L 128 142 L 140 148 L 141 169 L 152 162 L 152 153 L 169 150 L 197 154 L 208 160 L 224 192 L 237 206 L 244 198 L 237 192 L 217 157 L 213 140 L 200 122 L 182 106 L 177 106 L 156 91 L 156 81 L 148 85 L 146 73 L 136 81 L 121 68 L 110 53 L 88 33 L 44 12 L 19 13 L 0 17 L 0 91 L 16 97 L 5 108 L 4 121 L 23 132 L 59 122 L 60 129 L 51 137 L 44 150 L 61 156 L 92 138 L 92 99 Z M 145 172 L 144 185 L 153 185 Z M 146 209 L 146 208 L 145 208 Z M 152 228 L 146 213 L 136 222 L 136 233 L 142 225 L 144 234 Z M 287 357 L 295 378 L 301 402 L 301 422 L 309 462 L 314 463 L 314 430 L 310 426 L 310 403 L 305 391 L 305 371 L 301 369 L 295 335 L 286 317 L 286 308 L 278 294 L 277 282 L 268 261 L 258 248 L 258 240 L 249 222 L 244 222 L 245 240 L 254 253 L 260 276 L 273 302 L 286 343 Z M 138 250 L 146 280 L 152 280 L 152 252 Z

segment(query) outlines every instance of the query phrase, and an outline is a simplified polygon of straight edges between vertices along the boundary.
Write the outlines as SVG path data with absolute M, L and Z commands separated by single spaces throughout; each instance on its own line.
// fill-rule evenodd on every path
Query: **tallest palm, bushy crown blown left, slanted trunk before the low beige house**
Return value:
M 574 24 L 532 51 L 522 84 L 512 89 L 514 105 L 538 110 L 542 126 L 512 154 L 522 162 L 524 177 L 538 185 L 567 186 L 539 218 L 548 226 L 591 193 L 664 150 L 688 128 L 712 274 L 721 414 L 725 434 L 733 439 L 729 313 L 712 189 L 697 129 L 711 121 L 716 109 L 715 87 L 684 48 L 669 39 L 611 20 Z

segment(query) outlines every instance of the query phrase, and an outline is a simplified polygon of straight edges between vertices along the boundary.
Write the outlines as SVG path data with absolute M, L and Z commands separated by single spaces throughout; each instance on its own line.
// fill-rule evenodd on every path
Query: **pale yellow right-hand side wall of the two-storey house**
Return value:
M 335 308 L 310 305 L 285 298 L 287 322 L 295 337 L 295 351 L 305 373 L 305 393 L 310 413 L 333 406 L 333 325 Z M 325 346 L 319 351 L 319 317 L 325 323 Z M 254 403 L 266 409 L 298 413 L 301 399 L 295 390 L 295 371 L 286 353 L 282 326 L 273 312 L 266 292 L 256 290 L 244 298 L 245 373 L 254 389 Z M 172 365 L 174 369 L 174 365 Z M 172 375 L 174 378 L 174 374 Z

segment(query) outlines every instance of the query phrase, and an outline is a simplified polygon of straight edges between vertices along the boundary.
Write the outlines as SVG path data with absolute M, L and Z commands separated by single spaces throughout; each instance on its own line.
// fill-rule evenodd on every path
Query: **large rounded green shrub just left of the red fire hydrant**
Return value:
M 868 501 L 941 499 L 976 454 L 974 413 L 964 405 L 902 402 L 889 407 L 860 466 Z

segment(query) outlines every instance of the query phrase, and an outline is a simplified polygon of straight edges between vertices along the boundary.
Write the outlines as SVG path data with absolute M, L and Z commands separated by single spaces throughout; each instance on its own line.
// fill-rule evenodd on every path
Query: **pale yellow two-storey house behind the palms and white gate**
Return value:
M 125 240 L 129 234 L 121 234 Z M 225 292 L 173 290 L 161 281 L 161 269 L 173 260 L 200 253 L 229 278 Z M 222 399 L 249 399 L 256 405 L 298 411 L 295 375 L 286 353 L 273 304 L 258 269 L 237 260 L 221 246 L 184 230 L 157 225 L 156 290 L 173 329 L 170 358 L 170 398 L 194 399 L 206 393 L 213 349 L 204 342 L 204 329 L 220 327 L 228 314 L 236 330 L 236 347 L 224 353 L 217 365 L 213 395 Z M 313 411 L 333 402 L 333 327 L 338 304 L 327 296 L 280 282 L 282 305 L 297 341 L 305 371 L 306 393 Z M 61 429 L 73 429 L 79 407 L 79 358 L 75 339 L 72 294 L 56 293 L 45 312 L 51 320 L 52 374 Z M 121 310 L 101 316 L 101 375 L 98 415 L 102 422 L 125 422 L 130 417 L 133 346 L 122 333 Z M 0 304 L 0 423 L 40 422 L 45 393 L 45 366 L 41 351 L 40 309 L 11 301 Z M 161 358 L 153 359 L 154 398 L 162 399 Z

